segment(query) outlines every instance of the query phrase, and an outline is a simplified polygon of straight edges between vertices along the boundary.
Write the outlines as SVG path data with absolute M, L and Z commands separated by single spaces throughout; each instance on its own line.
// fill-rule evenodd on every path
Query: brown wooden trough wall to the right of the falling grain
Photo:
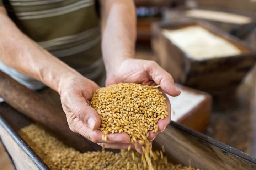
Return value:
M 256 158 L 174 122 L 153 145 L 159 149 L 164 145 L 172 162 L 204 170 L 256 169 Z

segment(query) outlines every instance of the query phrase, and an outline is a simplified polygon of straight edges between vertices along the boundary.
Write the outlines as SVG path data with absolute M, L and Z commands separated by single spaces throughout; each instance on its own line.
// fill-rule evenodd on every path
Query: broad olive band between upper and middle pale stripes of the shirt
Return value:
M 49 18 L 15 20 L 22 32 L 36 42 L 78 34 L 99 25 L 94 6 Z

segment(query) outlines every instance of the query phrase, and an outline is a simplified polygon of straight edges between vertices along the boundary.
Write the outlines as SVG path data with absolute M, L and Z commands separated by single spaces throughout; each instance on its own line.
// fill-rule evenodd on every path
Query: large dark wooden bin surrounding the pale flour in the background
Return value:
M 242 53 L 209 59 L 194 59 L 173 44 L 162 29 L 178 29 L 199 25 L 214 35 L 234 44 Z M 151 44 L 159 57 L 160 65 L 167 70 L 176 83 L 214 93 L 234 89 L 255 63 L 256 52 L 245 42 L 238 40 L 209 23 L 189 19 L 154 23 Z

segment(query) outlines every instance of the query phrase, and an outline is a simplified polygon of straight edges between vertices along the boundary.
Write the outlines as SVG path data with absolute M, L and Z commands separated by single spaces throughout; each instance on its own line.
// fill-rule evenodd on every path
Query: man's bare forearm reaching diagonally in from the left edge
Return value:
M 0 7 L 0 60 L 59 92 L 61 79 L 79 74 L 24 35 Z

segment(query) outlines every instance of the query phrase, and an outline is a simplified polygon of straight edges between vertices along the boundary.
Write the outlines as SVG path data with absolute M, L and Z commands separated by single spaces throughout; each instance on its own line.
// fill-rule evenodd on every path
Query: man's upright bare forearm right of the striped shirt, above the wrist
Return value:
M 107 74 L 134 57 L 136 15 L 133 0 L 101 0 L 102 53 Z

